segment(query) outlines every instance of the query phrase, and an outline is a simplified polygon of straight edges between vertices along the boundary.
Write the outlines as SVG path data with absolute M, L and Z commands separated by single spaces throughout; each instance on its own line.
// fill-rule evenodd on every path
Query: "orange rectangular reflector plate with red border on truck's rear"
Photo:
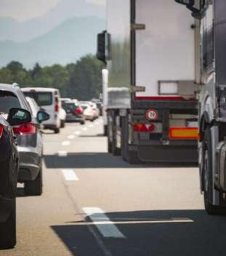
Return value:
M 170 139 L 198 139 L 198 128 L 169 128 Z

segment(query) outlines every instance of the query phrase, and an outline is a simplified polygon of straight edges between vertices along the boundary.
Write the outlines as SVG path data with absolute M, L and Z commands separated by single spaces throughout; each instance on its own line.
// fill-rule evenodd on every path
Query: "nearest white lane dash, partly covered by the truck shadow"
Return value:
M 93 221 L 94 225 L 98 228 L 100 233 L 102 233 L 102 236 L 104 237 L 113 237 L 117 239 L 125 239 L 121 231 L 118 230 L 116 225 L 113 224 L 112 221 L 105 215 L 105 212 L 97 207 L 84 207 L 83 208 L 86 215 Z M 104 220 L 104 225 L 99 224 L 98 220 L 101 218 L 101 220 Z

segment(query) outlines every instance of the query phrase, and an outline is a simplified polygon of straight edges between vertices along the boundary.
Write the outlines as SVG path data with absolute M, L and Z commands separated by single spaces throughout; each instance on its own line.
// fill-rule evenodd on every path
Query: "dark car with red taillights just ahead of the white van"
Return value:
M 73 102 L 62 103 L 62 108 L 66 111 L 66 121 L 77 121 L 85 124 L 85 116 L 83 108 Z

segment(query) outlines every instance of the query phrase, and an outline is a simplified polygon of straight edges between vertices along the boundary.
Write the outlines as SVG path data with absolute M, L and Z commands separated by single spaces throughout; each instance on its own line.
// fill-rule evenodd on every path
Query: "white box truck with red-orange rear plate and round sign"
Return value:
M 197 164 L 195 18 L 174 0 L 106 5 L 97 58 L 106 63 L 108 152 L 131 164 Z

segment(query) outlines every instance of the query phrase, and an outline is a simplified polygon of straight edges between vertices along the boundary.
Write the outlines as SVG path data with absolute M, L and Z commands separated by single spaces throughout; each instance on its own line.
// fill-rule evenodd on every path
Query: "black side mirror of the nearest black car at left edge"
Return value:
M 11 126 L 31 122 L 31 113 L 23 108 L 11 108 L 7 118 Z

